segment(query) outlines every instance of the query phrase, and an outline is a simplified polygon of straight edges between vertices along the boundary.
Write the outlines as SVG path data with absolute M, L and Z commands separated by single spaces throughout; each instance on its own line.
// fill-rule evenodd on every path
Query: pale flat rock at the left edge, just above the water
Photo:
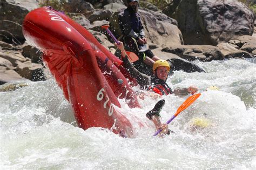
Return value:
M 6 67 L 0 66 L 0 85 L 15 82 L 15 81 L 24 81 L 28 80 L 19 76 L 19 74 L 14 70 L 6 70 Z

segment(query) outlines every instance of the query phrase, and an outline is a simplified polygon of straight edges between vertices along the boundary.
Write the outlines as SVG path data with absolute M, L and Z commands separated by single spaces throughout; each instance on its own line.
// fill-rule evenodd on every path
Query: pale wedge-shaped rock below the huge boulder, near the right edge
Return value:
M 223 53 L 225 58 L 251 58 L 250 53 L 236 49 L 233 45 L 228 43 L 220 43 L 217 45 L 218 49 Z

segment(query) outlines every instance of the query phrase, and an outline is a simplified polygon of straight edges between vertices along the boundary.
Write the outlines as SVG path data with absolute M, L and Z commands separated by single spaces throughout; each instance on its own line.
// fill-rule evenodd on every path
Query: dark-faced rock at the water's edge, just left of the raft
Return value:
M 16 72 L 23 78 L 32 81 L 45 80 L 43 66 L 41 64 L 31 63 L 31 61 L 24 63 L 17 61 L 17 64 Z

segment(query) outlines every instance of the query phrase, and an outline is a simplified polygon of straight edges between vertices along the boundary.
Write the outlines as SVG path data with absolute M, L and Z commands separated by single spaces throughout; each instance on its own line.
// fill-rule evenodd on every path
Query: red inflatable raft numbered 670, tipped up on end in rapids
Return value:
M 126 98 L 130 107 L 140 107 L 121 60 L 89 31 L 51 7 L 29 12 L 23 34 L 44 53 L 44 65 L 70 101 L 79 127 L 109 128 L 132 137 L 130 120 L 114 108 L 120 107 L 117 97 Z

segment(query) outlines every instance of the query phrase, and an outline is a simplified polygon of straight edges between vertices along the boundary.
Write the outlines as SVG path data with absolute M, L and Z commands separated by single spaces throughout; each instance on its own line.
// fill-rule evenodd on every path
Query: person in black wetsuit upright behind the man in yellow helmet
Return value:
M 147 39 L 138 13 L 139 1 L 127 0 L 127 4 L 127 8 L 118 16 L 119 26 L 123 34 L 119 39 L 124 42 L 126 51 L 134 52 L 139 57 L 139 60 L 133 63 L 134 67 L 142 73 L 152 75 L 149 68 L 159 58 L 146 47 Z

